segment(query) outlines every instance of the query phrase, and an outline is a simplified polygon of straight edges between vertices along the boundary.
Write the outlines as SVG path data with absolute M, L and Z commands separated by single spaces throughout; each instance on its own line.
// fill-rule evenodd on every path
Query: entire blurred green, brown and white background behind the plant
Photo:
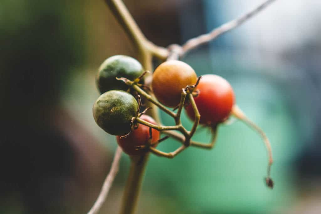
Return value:
M 262 0 L 125 0 L 148 39 L 183 44 Z M 260 137 L 242 122 L 221 126 L 213 150 L 151 156 L 137 213 L 321 212 L 321 2 L 276 1 L 182 60 L 218 74 L 273 148 L 271 191 Z M 117 143 L 92 117 L 104 59 L 136 51 L 104 1 L 0 2 L 0 213 L 87 213 Z M 157 62 L 155 63 L 155 66 Z M 161 114 L 165 124 L 169 118 Z M 188 128 L 191 122 L 183 115 Z M 208 141 L 199 130 L 194 139 Z M 167 140 L 159 149 L 179 144 Z M 129 170 L 100 213 L 117 213 Z

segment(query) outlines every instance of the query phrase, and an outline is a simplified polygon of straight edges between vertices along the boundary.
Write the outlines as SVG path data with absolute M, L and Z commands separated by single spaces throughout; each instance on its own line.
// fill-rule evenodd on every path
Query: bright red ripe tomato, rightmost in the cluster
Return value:
M 196 89 L 199 90 L 194 97 L 196 106 L 201 115 L 200 123 L 216 125 L 226 120 L 235 102 L 233 88 L 221 76 L 207 74 L 202 76 Z M 194 120 L 194 111 L 191 104 L 186 107 L 187 115 Z

